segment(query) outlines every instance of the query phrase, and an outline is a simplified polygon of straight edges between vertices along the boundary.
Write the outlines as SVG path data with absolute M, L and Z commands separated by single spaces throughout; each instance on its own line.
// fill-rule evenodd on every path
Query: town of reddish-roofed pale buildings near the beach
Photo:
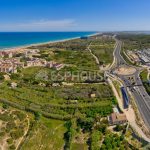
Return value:
M 54 61 L 46 61 L 45 59 L 36 58 L 39 56 L 38 49 L 25 49 L 25 52 L 7 52 L 0 51 L 0 72 L 17 73 L 19 68 L 27 67 L 48 67 L 56 70 L 62 69 L 65 64 L 59 64 Z

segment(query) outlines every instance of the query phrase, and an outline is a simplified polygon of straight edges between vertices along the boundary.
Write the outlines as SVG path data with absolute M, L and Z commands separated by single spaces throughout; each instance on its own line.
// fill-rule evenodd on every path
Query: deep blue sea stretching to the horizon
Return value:
M 96 32 L 0 32 L 0 50 L 90 36 Z

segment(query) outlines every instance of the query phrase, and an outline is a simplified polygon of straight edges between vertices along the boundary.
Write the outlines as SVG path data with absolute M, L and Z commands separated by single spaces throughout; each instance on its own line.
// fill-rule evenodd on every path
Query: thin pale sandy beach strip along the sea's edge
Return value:
M 90 34 L 87 35 L 88 37 L 92 37 L 92 36 L 96 36 L 100 33 L 94 33 L 94 34 Z M 42 42 L 42 43 L 37 43 L 37 44 L 29 44 L 29 45 L 25 45 L 25 46 L 17 46 L 17 47 L 13 47 L 13 48 L 5 48 L 5 49 L 0 49 L 0 52 L 15 52 L 15 53 L 19 53 L 19 52 L 25 52 L 29 47 L 32 46 L 41 46 L 41 45 L 46 45 L 46 44 L 53 44 L 53 43 L 61 43 L 61 42 L 66 42 L 66 41 L 71 41 L 71 40 L 76 40 L 79 39 L 80 37 L 74 37 L 74 38 L 68 38 L 68 39 L 63 39 L 63 40 L 56 40 L 56 41 L 49 41 L 49 42 Z

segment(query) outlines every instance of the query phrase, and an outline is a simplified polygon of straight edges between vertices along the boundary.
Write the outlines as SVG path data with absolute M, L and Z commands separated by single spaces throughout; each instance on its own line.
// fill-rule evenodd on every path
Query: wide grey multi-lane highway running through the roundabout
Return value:
M 120 54 L 121 46 L 122 46 L 122 42 L 119 40 L 116 40 L 116 49 L 114 52 L 116 63 L 112 67 L 112 72 L 114 71 L 114 69 L 117 69 L 121 65 L 128 66 L 128 64 L 126 63 L 126 61 L 123 59 L 123 57 Z M 124 82 L 125 88 L 128 87 L 129 90 L 131 91 L 146 126 L 150 128 L 150 96 L 147 94 L 145 88 L 143 87 L 142 81 L 139 78 L 138 68 L 136 68 L 136 72 L 132 74 L 131 76 L 134 78 L 134 82 L 135 82 L 134 85 L 131 82 L 131 80 L 129 80 L 128 76 L 119 75 L 118 77 L 120 77 L 122 81 Z

